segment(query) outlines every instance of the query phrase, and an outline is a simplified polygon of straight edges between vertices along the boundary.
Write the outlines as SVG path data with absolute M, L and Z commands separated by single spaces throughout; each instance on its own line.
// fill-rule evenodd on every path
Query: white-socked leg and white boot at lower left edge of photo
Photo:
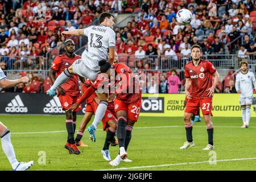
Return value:
M 2 122 L 0 122 L 0 138 L 2 143 L 3 152 L 5 152 L 5 155 L 7 156 L 11 167 L 14 171 L 25 171 L 31 166 L 33 166 L 34 162 L 28 162 L 28 163 L 19 163 L 16 159 L 13 144 L 11 144 L 11 133 L 7 129 L 5 125 L 3 125 Z

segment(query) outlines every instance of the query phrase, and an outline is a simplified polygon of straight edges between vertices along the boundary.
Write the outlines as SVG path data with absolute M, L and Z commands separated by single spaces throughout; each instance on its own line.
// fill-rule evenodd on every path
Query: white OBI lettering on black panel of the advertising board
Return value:
M 154 100 L 148 97 L 142 97 L 142 113 L 164 113 L 164 97 L 158 97 Z

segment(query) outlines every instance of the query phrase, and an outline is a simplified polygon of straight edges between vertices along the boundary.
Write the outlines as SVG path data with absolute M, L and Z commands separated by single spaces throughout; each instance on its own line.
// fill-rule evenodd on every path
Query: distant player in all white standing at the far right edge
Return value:
M 242 128 L 249 127 L 251 118 L 251 104 L 253 104 L 253 85 L 256 89 L 256 80 L 253 72 L 248 71 L 247 63 L 241 62 L 241 72 L 236 76 L 236 90 L 240 93 L 242 109 Z

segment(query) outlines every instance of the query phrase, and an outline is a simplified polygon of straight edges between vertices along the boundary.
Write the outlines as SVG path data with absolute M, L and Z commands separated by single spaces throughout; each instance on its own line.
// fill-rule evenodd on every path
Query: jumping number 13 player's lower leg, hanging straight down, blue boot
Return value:
M 97 126 L 101 122 L 108 108 L 107 95 L 105 93 L 97 93 L 97 96 L 100 100 L 100 104 L 98 104 L 92 125 L 90 125 L 87 129 L 89 131 L 92 142 L 96 142 L 95 132 L 96 132 Z

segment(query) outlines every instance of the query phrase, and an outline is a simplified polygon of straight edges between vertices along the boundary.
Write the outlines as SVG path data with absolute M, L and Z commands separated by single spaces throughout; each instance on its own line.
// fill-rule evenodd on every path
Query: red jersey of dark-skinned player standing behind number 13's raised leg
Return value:
M 51 69 L 56 71 L 56 76 L 59 76 L 64 69 L 70 67 L 77 59 L 81 59 L 81 56 L 75 55 L 75 57 L 69 58 L 65 55 L 65 53 L 63 53 L 62 55 L 55 57 L 54 61 L 52 62 Z M 64 84 L 60 86 L 69 96 L 80 96 L 77 75 L 72 75 L 66 82 L 64 82 Z

